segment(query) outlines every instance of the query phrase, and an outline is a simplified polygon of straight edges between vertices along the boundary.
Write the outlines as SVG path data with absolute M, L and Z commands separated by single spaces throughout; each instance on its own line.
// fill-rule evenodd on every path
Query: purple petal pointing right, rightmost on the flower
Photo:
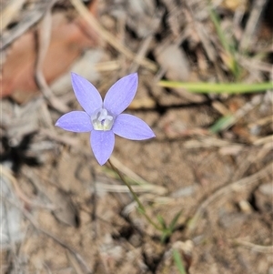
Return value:
M 131 140 L 145 140 L 156 137 L 147 123 L 129 114 L 121 114 L 116 117 L 112 130 L 116 135 Z

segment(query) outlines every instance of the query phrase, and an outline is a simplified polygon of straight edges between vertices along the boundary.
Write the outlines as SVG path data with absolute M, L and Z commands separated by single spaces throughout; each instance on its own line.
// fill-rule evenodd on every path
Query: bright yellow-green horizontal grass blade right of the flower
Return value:
M 183 87 L 193 93 L 217 93 L 217 94 L 239 94 L 265 91 L 273 88 L 272 82 L 258 84 L 243 83 L 185 83 L 175 81 L 160 81 L 159 86 Z

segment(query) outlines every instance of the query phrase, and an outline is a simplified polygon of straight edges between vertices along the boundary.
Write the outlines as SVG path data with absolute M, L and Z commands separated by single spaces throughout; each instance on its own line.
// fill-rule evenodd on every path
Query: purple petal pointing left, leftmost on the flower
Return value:
M 71 111 L 60 117 L 55 124 L 73 132 L 89 132 L 93 129 L 91 118 L 84 111 Z

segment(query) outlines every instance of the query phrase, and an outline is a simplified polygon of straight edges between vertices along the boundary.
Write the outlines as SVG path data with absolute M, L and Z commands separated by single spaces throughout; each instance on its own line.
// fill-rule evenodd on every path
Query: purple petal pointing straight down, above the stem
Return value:
M 115 135 L 112 130 L 93 130 L 90 143 L 96 160 L 102 166 L 113 152 Z

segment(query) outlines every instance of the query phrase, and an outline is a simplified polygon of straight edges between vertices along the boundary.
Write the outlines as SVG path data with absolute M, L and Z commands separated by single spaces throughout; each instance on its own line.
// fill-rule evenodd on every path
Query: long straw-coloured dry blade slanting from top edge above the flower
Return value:
M 146 66 L 152 71 L 157 71 L 157 65 L 155 63 L 145 58 L 137 59 L 133 52 L 131 52 L 126 46 L 122 45 L 115 36 L 106 31 L 106 29 L 99 24 L 96 18 L 87 11 L 85 5 L 83 5 L 80 0 L 70 1 L 76 8 L 76 11 L 86 20 L 86 22 L 96 31 L 96 33 L 105 39 L 111 46 L 115 47 L 117 51 L 124 54 L 127 58 L 134 60 L 136 63 Z

